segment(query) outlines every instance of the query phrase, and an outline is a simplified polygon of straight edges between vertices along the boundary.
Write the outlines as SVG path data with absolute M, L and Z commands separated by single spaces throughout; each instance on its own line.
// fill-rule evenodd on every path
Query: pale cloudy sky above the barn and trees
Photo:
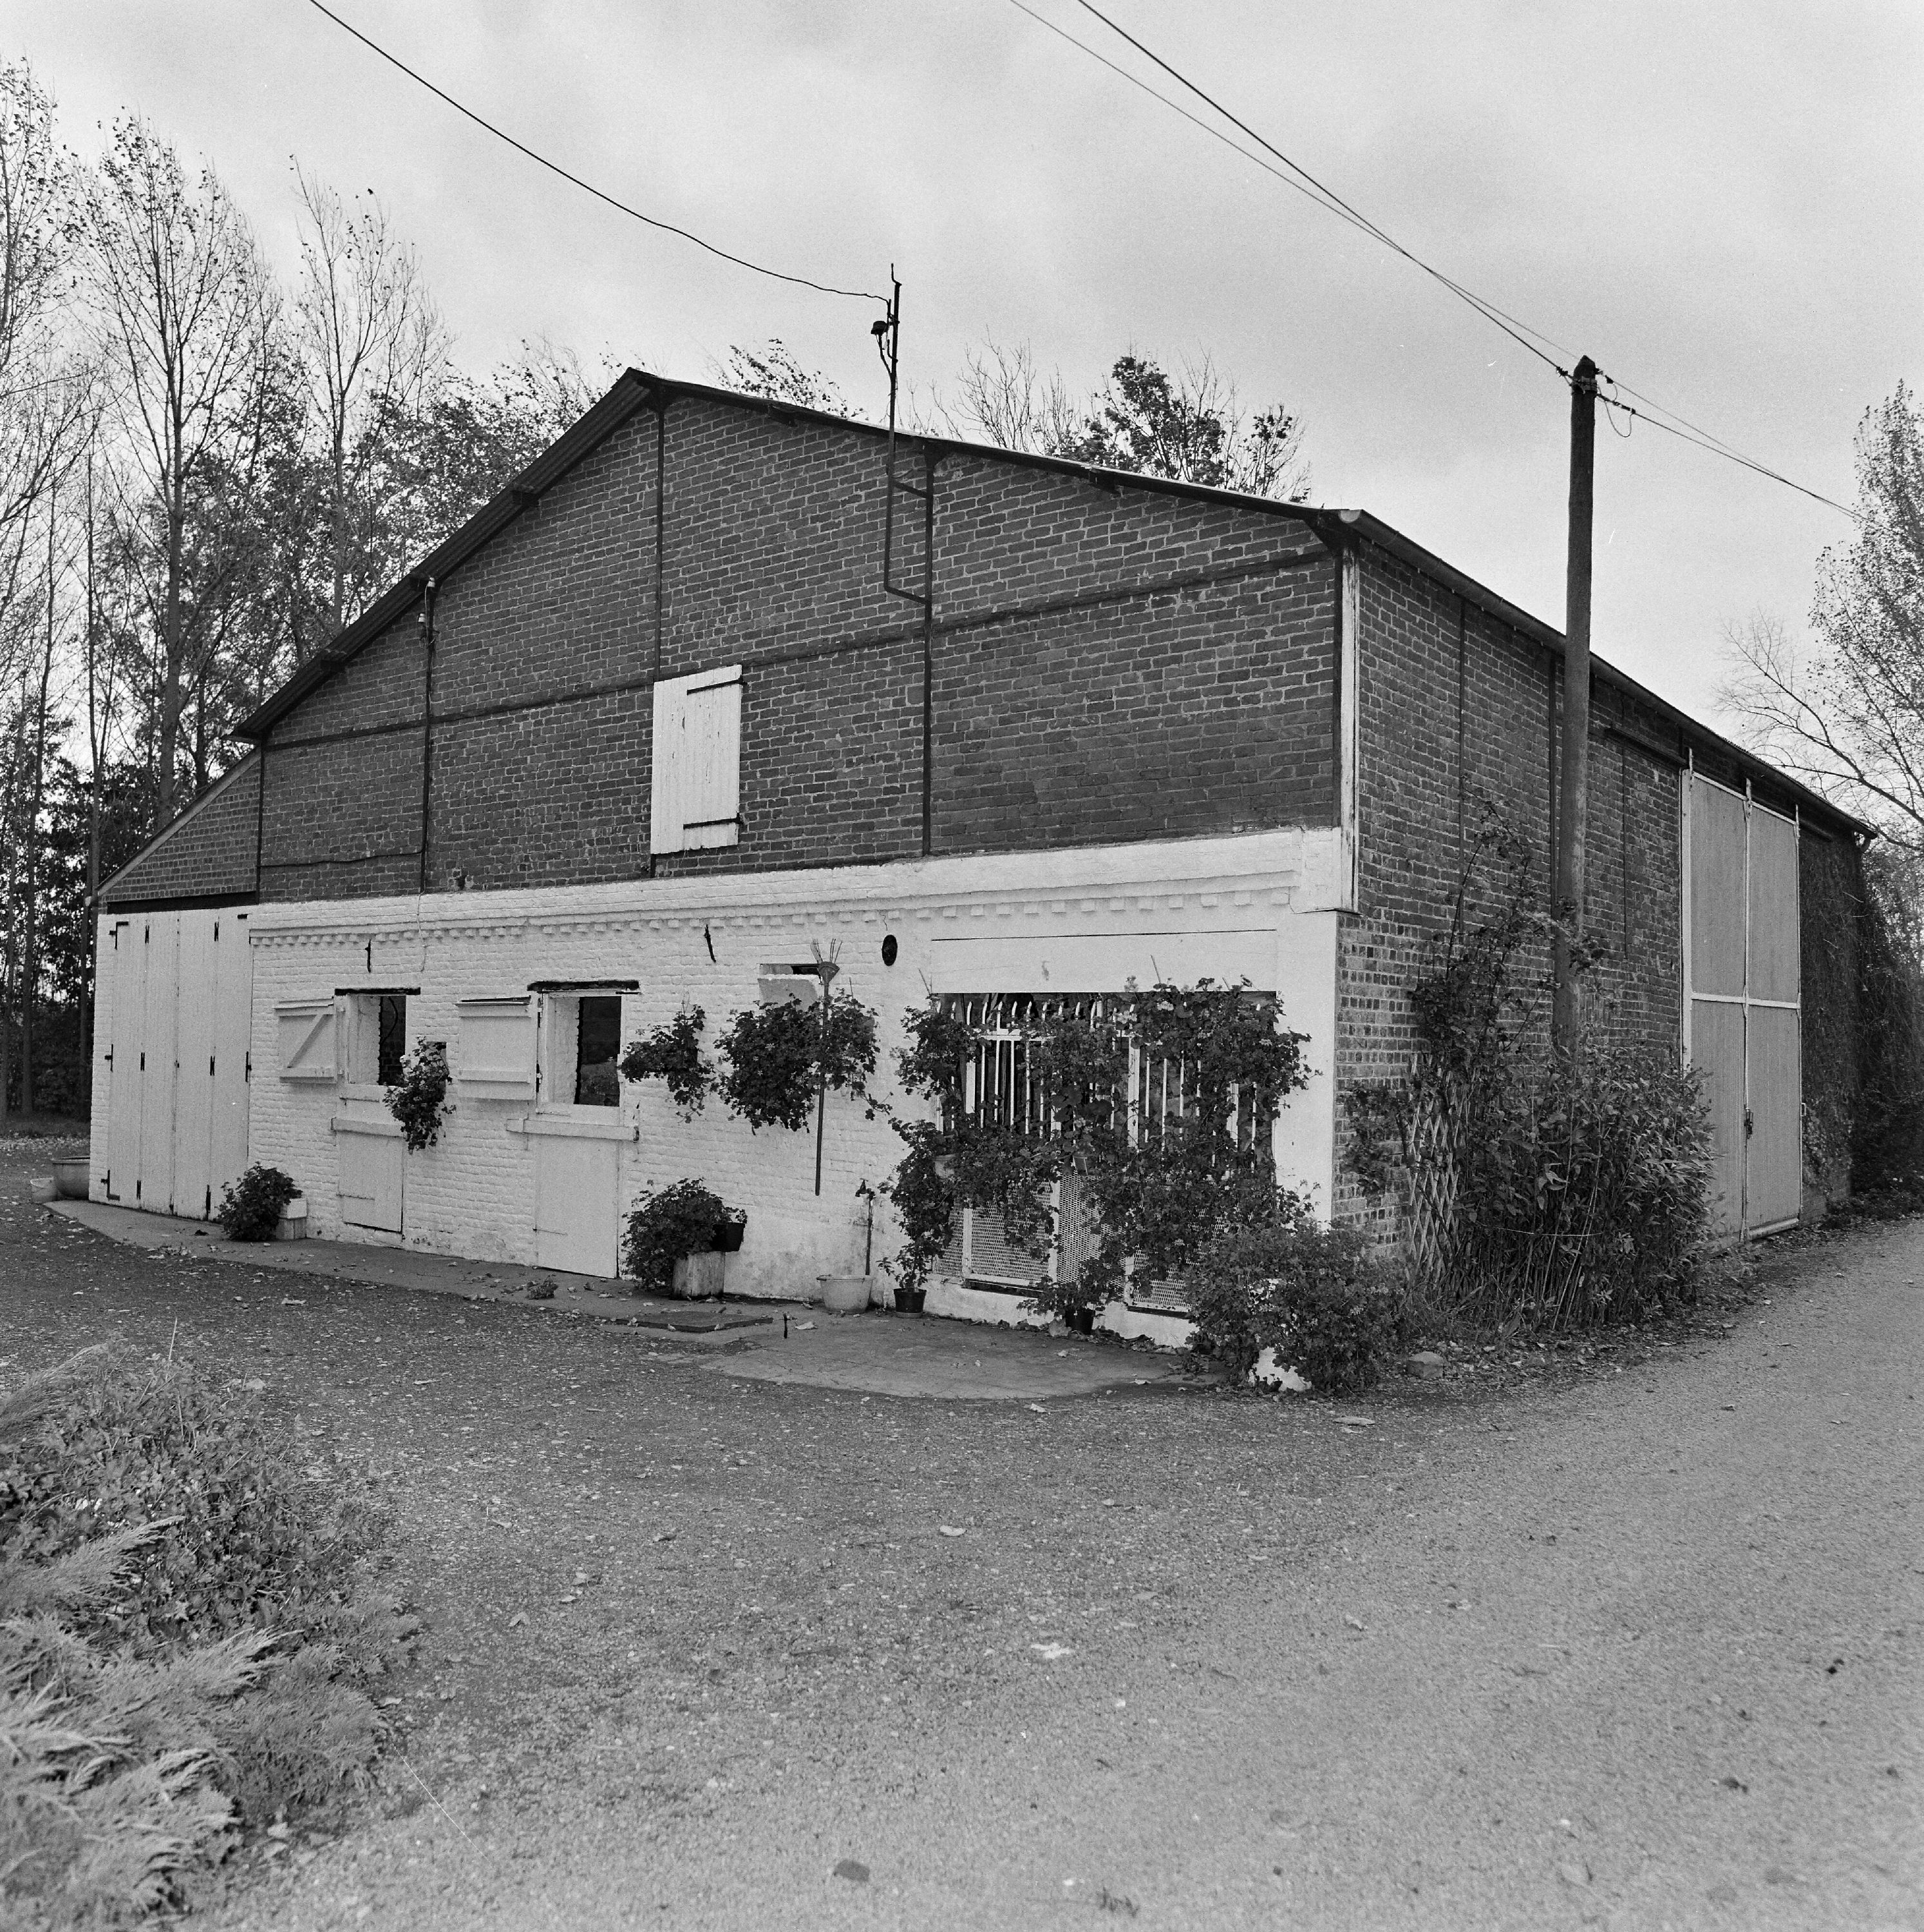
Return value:
M 1557 377 L 1012 0 L 330 4 L 722 247 L 854 288 L 894 263 L 916 383 L 985 336 L 1080 386 L 1130 346 L 1213 355 L 1308 421 L 1317 500 L 1561 622 Z M 1076 0 L 1024 4 L 1149 71 Z M 1864 408 L 1924 381 L 1914 0 L 1105 12 L 1457 280 L 1824 495 L 1853 500 Z M 33 62 L 83 155 L 131 108 L 212 164 L 284 267 L 294 158 L 375 189 L 473 365 L 551 336 L 705 377 L 778 336 L 881 408 L 871 307 L 599 207 L 309 0 L 0 0 L 0 52 Z M 1599 431 L 1598 649 L 1712 713 L 1723 626 L 1798 626 L 1849 527 L 1648 427 Z

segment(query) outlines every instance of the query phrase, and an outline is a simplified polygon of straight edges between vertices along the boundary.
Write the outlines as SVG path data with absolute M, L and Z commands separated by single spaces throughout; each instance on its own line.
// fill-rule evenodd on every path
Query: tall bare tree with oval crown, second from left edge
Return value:
M 149 512 L 158 668 L 155 804 L 174 815 L 197 585 L 193 520 L 245 468 L 274 365 L 276 296 L 220 182 L 187 180 L 145 122 L 116 122 L 85 195 L 100 338 Z

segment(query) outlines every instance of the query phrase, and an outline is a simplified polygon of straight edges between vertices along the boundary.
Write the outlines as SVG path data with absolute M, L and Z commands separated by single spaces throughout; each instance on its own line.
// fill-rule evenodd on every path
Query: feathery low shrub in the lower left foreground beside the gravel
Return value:
M 0 1401 L 0 1918 L 180 1897 L 236 1820 L 365 1783 L 410 1625 L 388 1519 L 259 1391 L 112 1349 Z

